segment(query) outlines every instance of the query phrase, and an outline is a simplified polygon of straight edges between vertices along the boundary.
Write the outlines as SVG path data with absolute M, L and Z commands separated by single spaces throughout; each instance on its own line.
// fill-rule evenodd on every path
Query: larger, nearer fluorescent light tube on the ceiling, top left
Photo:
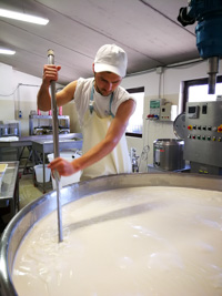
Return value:
M 37 24 L 43 24 L 43 25 L 49 22 L 48 19 L 34 17 L 34 16 L 27 14 L 27 13 L 20 13 L 20 12 L 7 10 L 7 9 L 0 9 L 0 17 L 19 20 L 19 21 L 32 22 Z

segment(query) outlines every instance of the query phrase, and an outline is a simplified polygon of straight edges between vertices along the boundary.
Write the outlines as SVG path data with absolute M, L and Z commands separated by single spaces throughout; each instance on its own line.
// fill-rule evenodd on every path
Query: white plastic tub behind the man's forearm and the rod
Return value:
M 73 151 L 64 151 L 64 152 L 60 153 L 60 157 L 67 160 L 68 162 L 71 162 L 74 159 L 80 157 L 80 155 L 77 153 L 73 153 Z M 53 153 L 48 154 L 48 160 L 49 160 L 49 162 L 53 161 L 54 154 Z M 61 176 L 60 182 L 61 182 L 62 187 L 79 182 L 80 176 L 81 176 L 81 171 L 77 172 L 75 174 L 73 174 L 71 176 Z M 52 188 L 53 190 L 57 188 L 57 184 L 56 184 L 56 181 L 53 177 L 52 177 Z

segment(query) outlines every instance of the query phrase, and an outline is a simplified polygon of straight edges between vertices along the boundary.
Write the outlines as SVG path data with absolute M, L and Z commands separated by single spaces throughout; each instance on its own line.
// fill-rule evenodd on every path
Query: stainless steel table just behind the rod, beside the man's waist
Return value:
M 59 150 L 82 150 L 82 134 L 75 134 L 72 139 L 61 139 L 59 137 Z M 38 153 L 42 155 L 42 170 L 43 170 L 43 183 L 40 184 L 37 182 L 34 177 L 34 172 L 33 172 L 33 183 L 36 186 L 40 186 L 46 193 L 47 190 L 47 182 L 46 182 L 46 172 L 44 172 L 44 166 L 46 166 L 46 154 L 53 153 L 53 141 L 52 140 L 39 140 L 39 141 L 33 141 L 32 142 L 32 151 L 33 151 L 33 166 L 38 163 L 38 160 L 40 159 L 38 156 Z

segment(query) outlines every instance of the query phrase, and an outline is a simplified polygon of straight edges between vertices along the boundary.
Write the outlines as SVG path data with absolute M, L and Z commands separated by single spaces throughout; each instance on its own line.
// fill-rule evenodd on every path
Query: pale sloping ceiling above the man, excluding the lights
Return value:
M 41 16 L 47 25 L 0 18 L 0 62 L 41 78 L 48 49 L 61 65 L 59 82 L 92 75 L 98 49 L 115 43 L 128 53 L 128 74 L 199 58 L 194 24 L 176 20 L 186 0 L 0 0 L 0 8 Z

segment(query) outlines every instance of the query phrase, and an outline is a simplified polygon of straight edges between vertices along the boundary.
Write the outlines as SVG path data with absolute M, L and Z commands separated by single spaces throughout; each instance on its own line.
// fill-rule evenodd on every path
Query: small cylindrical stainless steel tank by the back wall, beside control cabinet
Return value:
M 184 169 L 183 149 L 183 140 L 158 139 L 153 142 L 153 165 L 165 171 Z

